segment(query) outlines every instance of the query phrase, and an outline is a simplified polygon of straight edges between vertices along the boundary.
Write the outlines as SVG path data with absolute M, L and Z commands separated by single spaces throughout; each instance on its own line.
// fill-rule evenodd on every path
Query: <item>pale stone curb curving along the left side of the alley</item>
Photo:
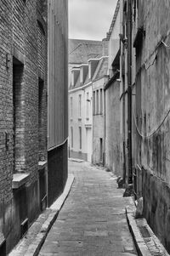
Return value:
M 39 215 L 38 219 L 31 225 L 30 229 L 26 233 L 26 236 L 14 247 L 13 251 L 9 253 L 9 256 L 37 256 L 41 250 L 42 244 L 48 236 L 48 232 L 54 225 L 54 221 L 57 219 L 60 209 L 62 208 L 69 192 L 71 191 L 71 185 L 74 182 L 74 175 L 69 174 L 65 184 L 65 190 L 54 202 L 54 204 L 47 208 L 46 211 Z M 45 219 L 45 220 L 44 220 Z M 39 226 L 39 227 L 38 227 Z M 33 236 L 36 228 L 38 227 L 37 234 L 33 241 L 28 245 L 29 237 Z M 32 239 L 31 239 L 32 240 Z M 27 248 L 26 248 L 27 247 Z

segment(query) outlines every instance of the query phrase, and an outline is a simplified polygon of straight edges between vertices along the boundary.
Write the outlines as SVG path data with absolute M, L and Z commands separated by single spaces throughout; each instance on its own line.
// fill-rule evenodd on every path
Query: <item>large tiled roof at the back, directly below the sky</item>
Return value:
M 102 41 L 69 39 L 69 63 L 88 63 L 91 58 L 102 56 Z

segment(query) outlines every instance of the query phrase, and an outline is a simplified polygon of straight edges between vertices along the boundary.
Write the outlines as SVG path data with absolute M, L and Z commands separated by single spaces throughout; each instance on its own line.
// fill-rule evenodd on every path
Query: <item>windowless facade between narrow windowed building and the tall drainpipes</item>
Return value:
M 120 162 L 120 1 L 107 34 L 109 80 L 105 84 L 105 166 L 117 176 L 122 176 Z

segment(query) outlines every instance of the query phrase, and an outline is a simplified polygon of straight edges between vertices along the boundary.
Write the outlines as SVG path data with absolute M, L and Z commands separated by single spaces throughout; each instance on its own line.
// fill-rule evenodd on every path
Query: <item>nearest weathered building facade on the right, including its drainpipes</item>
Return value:
M 121 133 L 127 183 L 133 181 L 135 198 L 143 197 L 144 217 L 168 252 L 169 9 L 167 1 L 121 1 Z

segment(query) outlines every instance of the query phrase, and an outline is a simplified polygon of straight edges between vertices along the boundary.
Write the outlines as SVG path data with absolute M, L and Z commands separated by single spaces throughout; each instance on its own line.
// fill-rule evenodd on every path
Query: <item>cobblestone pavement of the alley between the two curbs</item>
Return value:
M 69 171 L 74 184 L 39 255 L 137 255 L 116 179 L 88 162 L 69 162 Z

